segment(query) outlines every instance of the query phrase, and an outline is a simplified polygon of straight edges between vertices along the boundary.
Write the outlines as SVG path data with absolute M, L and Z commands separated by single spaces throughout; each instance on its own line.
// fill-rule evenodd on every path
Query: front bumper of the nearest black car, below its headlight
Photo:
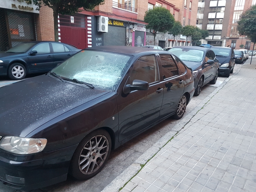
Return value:
M 16 155 L 0 149 L 0 181 L 19 190 L 65 181 L 77 145 L 31 155 Z

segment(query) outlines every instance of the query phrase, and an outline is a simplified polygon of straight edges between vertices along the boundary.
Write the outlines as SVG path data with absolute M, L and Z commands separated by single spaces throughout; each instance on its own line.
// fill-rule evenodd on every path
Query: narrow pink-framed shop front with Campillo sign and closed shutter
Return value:
M 134 25 L 132 46 L 142 47 L 146 41 L 146 27 L 144 25 Z

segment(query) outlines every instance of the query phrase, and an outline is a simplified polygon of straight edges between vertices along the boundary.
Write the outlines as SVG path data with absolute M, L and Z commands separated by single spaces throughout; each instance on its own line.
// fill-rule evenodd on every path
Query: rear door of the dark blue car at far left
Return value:
M 70 51 L 67 46 L 61 43 L 52 42 L 51 45 L 54 58 L 54 67 L 73 55 L 73 52 Z

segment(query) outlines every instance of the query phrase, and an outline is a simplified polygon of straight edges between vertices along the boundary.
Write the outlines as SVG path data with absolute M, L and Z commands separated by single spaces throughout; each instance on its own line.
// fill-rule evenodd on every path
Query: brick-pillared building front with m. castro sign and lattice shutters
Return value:
M 0 51 L 32 40 L 54 40 L 52 9 L 24 0 L 0 0 Z

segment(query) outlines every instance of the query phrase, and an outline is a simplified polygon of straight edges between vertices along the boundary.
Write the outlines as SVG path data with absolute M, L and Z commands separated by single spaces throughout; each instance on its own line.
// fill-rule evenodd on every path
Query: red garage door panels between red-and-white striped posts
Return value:
M 87 47 L 85 28 L 60 26 L 60 41 L 78 49 L 85 49 Z

